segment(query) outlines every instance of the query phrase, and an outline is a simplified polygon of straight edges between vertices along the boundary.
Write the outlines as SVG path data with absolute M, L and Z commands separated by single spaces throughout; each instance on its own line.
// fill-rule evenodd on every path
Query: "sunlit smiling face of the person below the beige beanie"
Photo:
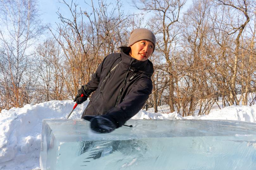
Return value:
M 154 44 L 151 41 L 138 41 L 131 46 L 130 56 L 144 62 L 153 53 L 153 48 Z

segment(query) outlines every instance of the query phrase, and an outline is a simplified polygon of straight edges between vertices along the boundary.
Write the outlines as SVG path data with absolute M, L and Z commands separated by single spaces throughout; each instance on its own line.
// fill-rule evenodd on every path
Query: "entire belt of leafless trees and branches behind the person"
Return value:
M 38 43 L 44 28 L 36 3 L 0 0 L 0 109 L 71 99 L 141 27 L 157 37 L 147 107 L 168 104 L 170 112 L 189 116 L 208 114 L 214 103 L 256 102 L 254 1 L 195 0 L 185 11 L 185 0 L 134 0 L 143 13 L 133 15 L 124 14 L 121 2 L 91 0 L 85 9 L 59 0 L 68 14 L 58 11 L 52 37 Z

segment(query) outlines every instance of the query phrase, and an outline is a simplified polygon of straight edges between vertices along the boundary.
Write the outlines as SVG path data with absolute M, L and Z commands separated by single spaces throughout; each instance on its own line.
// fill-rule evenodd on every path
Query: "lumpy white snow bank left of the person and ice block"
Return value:
M 88 102 L 78 105 L 70 116 L 81 118 Z M 49 101 L 0 113 L 0 169 L 39 168 L 40 139 L 43 119 L 66 118 L 74 102 Z

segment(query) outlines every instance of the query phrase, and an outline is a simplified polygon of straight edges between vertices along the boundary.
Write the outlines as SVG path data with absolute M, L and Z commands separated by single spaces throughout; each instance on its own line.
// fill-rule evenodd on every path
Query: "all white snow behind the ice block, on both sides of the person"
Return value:
M 71 119 L 79 119 L 88 102 L 74 110 Z M 43 119 L 62 119 L 74 105 L 71 100 L 50 101 L 23 108 L 11 108 L 0 113 L 0 169 L 39 169 L 40 138 Z M 176 112 L 169 113 L 167 106 L 154 110 L 140 110 L 132 119 L 217 119 L 241 120 L 256 123 L 256 105 L 229 106 L 223 109 L 213 107 L 209 115 L 182 117 Z M 160 113 L 161 112 L 161 113 Z

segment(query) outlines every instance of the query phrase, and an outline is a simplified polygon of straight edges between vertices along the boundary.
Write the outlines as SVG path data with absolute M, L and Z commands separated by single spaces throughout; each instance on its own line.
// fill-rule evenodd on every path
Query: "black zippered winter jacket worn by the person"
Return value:
M 136 60 L 123 51 L 104 58 L 85 91 L 94 94 L 84 115 L 108 114 L 117 127 L 140 111 L 152 92 L 153 64 Z

